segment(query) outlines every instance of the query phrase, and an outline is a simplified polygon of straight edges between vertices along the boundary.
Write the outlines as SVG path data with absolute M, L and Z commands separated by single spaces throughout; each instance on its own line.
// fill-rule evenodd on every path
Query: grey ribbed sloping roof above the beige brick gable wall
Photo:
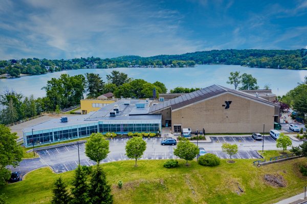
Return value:
M 214 84 L 214 85 L 208 86 L 206 88 L 196 90 L 195 92 L 191 92 L 191 93 L 179 96 L 177 98 L 174 98 L 174 99 L 171 99 L 171 100 L 168 100 L 168 101 L 164 101 L 163 103 L 159 103 L 157 105 L 150 106 L 149 113 L 153 113 L 153 112 L 163 110 L 163 109 L 169 108 L 169 107 L 171 107 L 171 109 L 181 108 L 183 106 L 186 106 L 186 105 L 198 102 L 198 101 L 202 101 L 204 99 L 208 99 L 210 97 L 217 96 L 219 94 L 223 94 L 223 93 L 226 93 L 226 92 L 230 92 L 230 93 L 233 93 L 233 94 L 244 96 L 244 97 L 247 97 L 247 98 L 250 98 L 250 99 L 254 99 L 254 100 L 257 100 L 257 101 L 260 101 L 260 102 L 270 104 L 270 105 L 278 106 L 275 103 L 272 103 L 272 102 L 270 102 L 266 99 L 257 98 L 257 97 L 255 97 L 251 94 L 240 92 L 239 90 L 234 90 L 234 89 L 230 89 L 230 88 L 227 88 L 227 87 L 223 87 L 223 86 Z

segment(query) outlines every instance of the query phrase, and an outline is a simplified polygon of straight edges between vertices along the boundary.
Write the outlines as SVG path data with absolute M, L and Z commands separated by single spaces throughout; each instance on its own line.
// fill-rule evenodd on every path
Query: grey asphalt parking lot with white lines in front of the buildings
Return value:
M 111 139 L 109 140 L 109 150 L 108 156 L 101 162 L 115 162 L 115 161 L 125 161 L 129 158 L 125 155 L 125 145 L 128 139 Z M 169 158 L 177 158 L 173 155 L 173 150 L 177 146 L 162 146 L 160 145 L 163 138 L 144 138 L 147 143 L 147 148 L 140 160 L 164 160 Z M 212 143 L 199 143 L 199 146 L 204 147 L 208 153 L 213 153 L 220 158 L 229 158 L 227 154 L 221 151 L 221 144 L 218 144 L 222 139 L 220 137 L 212 137 L 212 141 L 217 145 L 213 148 Z M 252 143 L 253 140 L 249 137 L 225 137 L 225 142 L 238 142 L 238 143 Z M 268 139 L 269 141 L 270 139 Z M 273 140 L 273 139 L 272 139 Z M 241 141 L 241 142 L 240 142 Z M 267 139 L 266 139 L 267 141 Z M 194 141 L 193 141 L 194 142 Z M 220 143 L 223 143 L 222 141 Z M 212 148 L 210 148 L 212 146 Z M 84 143 L 79 144 L 80 152 L 80 164 L 86 166 L 92 166 L 96 163 L 85 155 L 85 145 Z M 20 165 L 16 168 L 11 167 L 12 171 L 18 171 L 20 176 L 25 175 L 25 173 L 44 166 L 51 167 L 54 172 L 61 173 L 65 171 L 74 170 L 79 163 L 78 160 L 78 146 L 68 145 L 63 147 L 57 147 L 46 150 L 37 151 L 40 158 L 34 158 L 31 160 L 23 160 Z M 239 149 L 238 153 L 233 155 L 232 158 L 260 158 L 259 154 L 255 150 L 251 149 Z

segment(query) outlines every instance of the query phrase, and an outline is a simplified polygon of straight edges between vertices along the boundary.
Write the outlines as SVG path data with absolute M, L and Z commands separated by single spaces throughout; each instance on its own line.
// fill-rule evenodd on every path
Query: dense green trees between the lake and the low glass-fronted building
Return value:
M 143 79 L 132 79 L 118 71 L 106 75 L 106 78 L 107 82 L 104 82 L 99 74 L 62 74 L 59 78 L 48 80 L 47 85 L 42 87 L 46 96 L 37 99 L 33 95 L 25 97 L 14 90 L 5 90 L 0 95 L 0 123 L 10 124 L 39 115 L 43 111 L 60 111 L 79 105 L 84 95 L 87 98 L 97 98 L 111 92 L 116 98 L 152 98 L 154 89 L 156 97 L 167 92 L 162 82 L 149 83 Z

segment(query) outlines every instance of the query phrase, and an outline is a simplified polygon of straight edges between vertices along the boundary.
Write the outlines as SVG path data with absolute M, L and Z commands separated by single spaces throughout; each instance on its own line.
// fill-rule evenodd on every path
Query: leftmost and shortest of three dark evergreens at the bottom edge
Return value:
M 67 204 L 71 200 L 71 197 L 67 191 L 67 185 L 65 185 L 61 177 L 56 179 L 52 192 L 52 204 Z

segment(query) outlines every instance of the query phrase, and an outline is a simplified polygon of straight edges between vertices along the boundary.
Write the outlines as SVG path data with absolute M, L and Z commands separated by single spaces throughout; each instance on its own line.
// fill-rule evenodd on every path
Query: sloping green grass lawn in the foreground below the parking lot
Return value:
M 222 160 L 217 167 L 204 167 L 180 160 L 180 167 L 166 169 L 163 160 L 141 160 L 103 164 L 109 184 L 112 185 L 114 203 L 273 203 L 303 192 L 307 177 L 299 172 L 298 165 L 306 158 L 256 167 L 253 160 L 235 160 L 234 164 Z M 272 187 L 265 183 L 264 175 L 280 174 L 287 186 Z M 71 183 L 74 171 L 61 174 L 49 168 L 30 172 L 22 182 L 6 185 L 0 190 L 13 203 L 50 203 L 54 180 L 62 176 Z M 117 187 L 118 180 L 123 188 Z M 238 186 L 244 192 L 237 194 Z

